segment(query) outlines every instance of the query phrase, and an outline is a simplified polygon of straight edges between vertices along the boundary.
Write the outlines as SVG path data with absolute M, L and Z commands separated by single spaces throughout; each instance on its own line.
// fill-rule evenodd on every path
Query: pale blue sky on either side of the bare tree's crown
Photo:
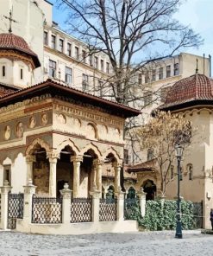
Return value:
M 50 1 L 52 3 L 56 0 Z M 185 25 L 191 25 L 196 33 L 204 39 L 204 45 L 199 48 L 185 49 L 185 52 L 213 57 L 213 0 L 183 0 L 179 13 L 175 16 Z M 66 12 L 53 8 L 53 20 L 65 28 Z

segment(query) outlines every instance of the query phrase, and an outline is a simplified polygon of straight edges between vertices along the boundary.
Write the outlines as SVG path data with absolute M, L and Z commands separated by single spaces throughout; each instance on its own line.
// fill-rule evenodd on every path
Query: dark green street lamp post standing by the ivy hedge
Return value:
M 183 147 L 180 144 L 175 146 L 176 157 L 178 160 L 178 201 L 177 201 L 177 225 L 176 225 L 176 238 L 182 238 L 181 215 L 180 215 L 180 196 L 179 196 L 179 178 L 180 178 L 180 160 L 183 155 Z

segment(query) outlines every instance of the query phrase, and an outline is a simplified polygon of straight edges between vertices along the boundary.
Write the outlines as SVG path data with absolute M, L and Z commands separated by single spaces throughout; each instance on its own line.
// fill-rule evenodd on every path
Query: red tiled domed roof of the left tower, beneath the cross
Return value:
M 12 33 L 0 34 L 1 49 L 16 50 L 20 53 L 28 54 L 34 61 L 34 67 L 41 67 L 37 54 L 28 47 L 28 43 L 21 36 Z

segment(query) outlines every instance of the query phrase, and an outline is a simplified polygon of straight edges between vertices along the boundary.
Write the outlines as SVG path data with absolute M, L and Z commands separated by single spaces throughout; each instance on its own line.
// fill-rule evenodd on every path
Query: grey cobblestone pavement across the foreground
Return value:
M 40 235 L 0 232 L 0 255 L 83 255 L 83 256 L 212 256 L 213 235 L 198 231 L 184 232 L 175 239 L 174 232 L 131 234 Z

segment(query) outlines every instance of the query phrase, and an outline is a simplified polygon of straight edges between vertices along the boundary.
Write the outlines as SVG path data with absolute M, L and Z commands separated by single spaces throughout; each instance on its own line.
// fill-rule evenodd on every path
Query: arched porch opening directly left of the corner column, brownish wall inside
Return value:
M 35 144 L 29 152 L 34 156 L 32 180 L 36 186 L 35 192 L 38 195 L 49 195 L 49 161 L 47 151 L 41 144 Z

